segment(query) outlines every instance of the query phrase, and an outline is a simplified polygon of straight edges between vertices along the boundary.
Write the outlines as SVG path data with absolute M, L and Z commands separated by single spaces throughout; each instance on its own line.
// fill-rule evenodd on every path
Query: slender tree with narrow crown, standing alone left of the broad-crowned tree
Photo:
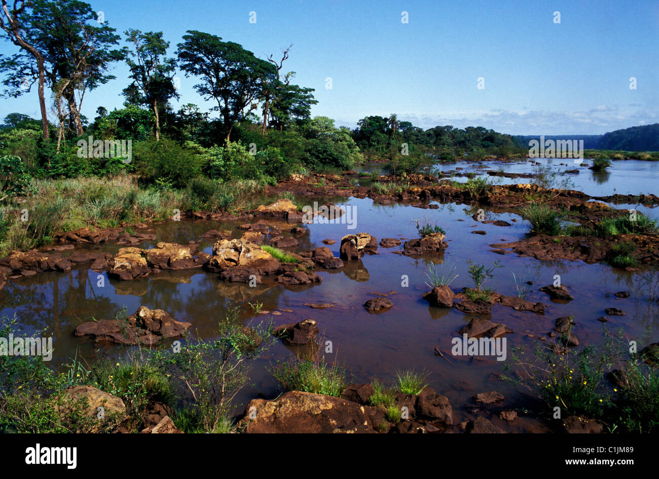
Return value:
M 128 40 L 134 45 L 132 58 L 127 59 L 132 83 L 123 90 L 130 103 L 147 105 L 154 111 L 156 140 L 160 139 L 159 107 L 167 105 L 171 98 L 179 98 L 174 85 L 176 60 L 166 58 L 169 42 L 163 40 L 163 32 L 128 30 Z M 134 59 L 133 59 L 134 58 Z

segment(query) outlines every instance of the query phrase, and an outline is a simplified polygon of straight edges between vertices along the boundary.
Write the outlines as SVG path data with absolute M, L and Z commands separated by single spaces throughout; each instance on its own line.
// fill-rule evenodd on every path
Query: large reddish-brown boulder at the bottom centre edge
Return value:
M 374 433 L 368 415 L 373 409 L 339 397 L 289 391 L 272 401 L 250 401 L 238 427 L 246 433 Z

